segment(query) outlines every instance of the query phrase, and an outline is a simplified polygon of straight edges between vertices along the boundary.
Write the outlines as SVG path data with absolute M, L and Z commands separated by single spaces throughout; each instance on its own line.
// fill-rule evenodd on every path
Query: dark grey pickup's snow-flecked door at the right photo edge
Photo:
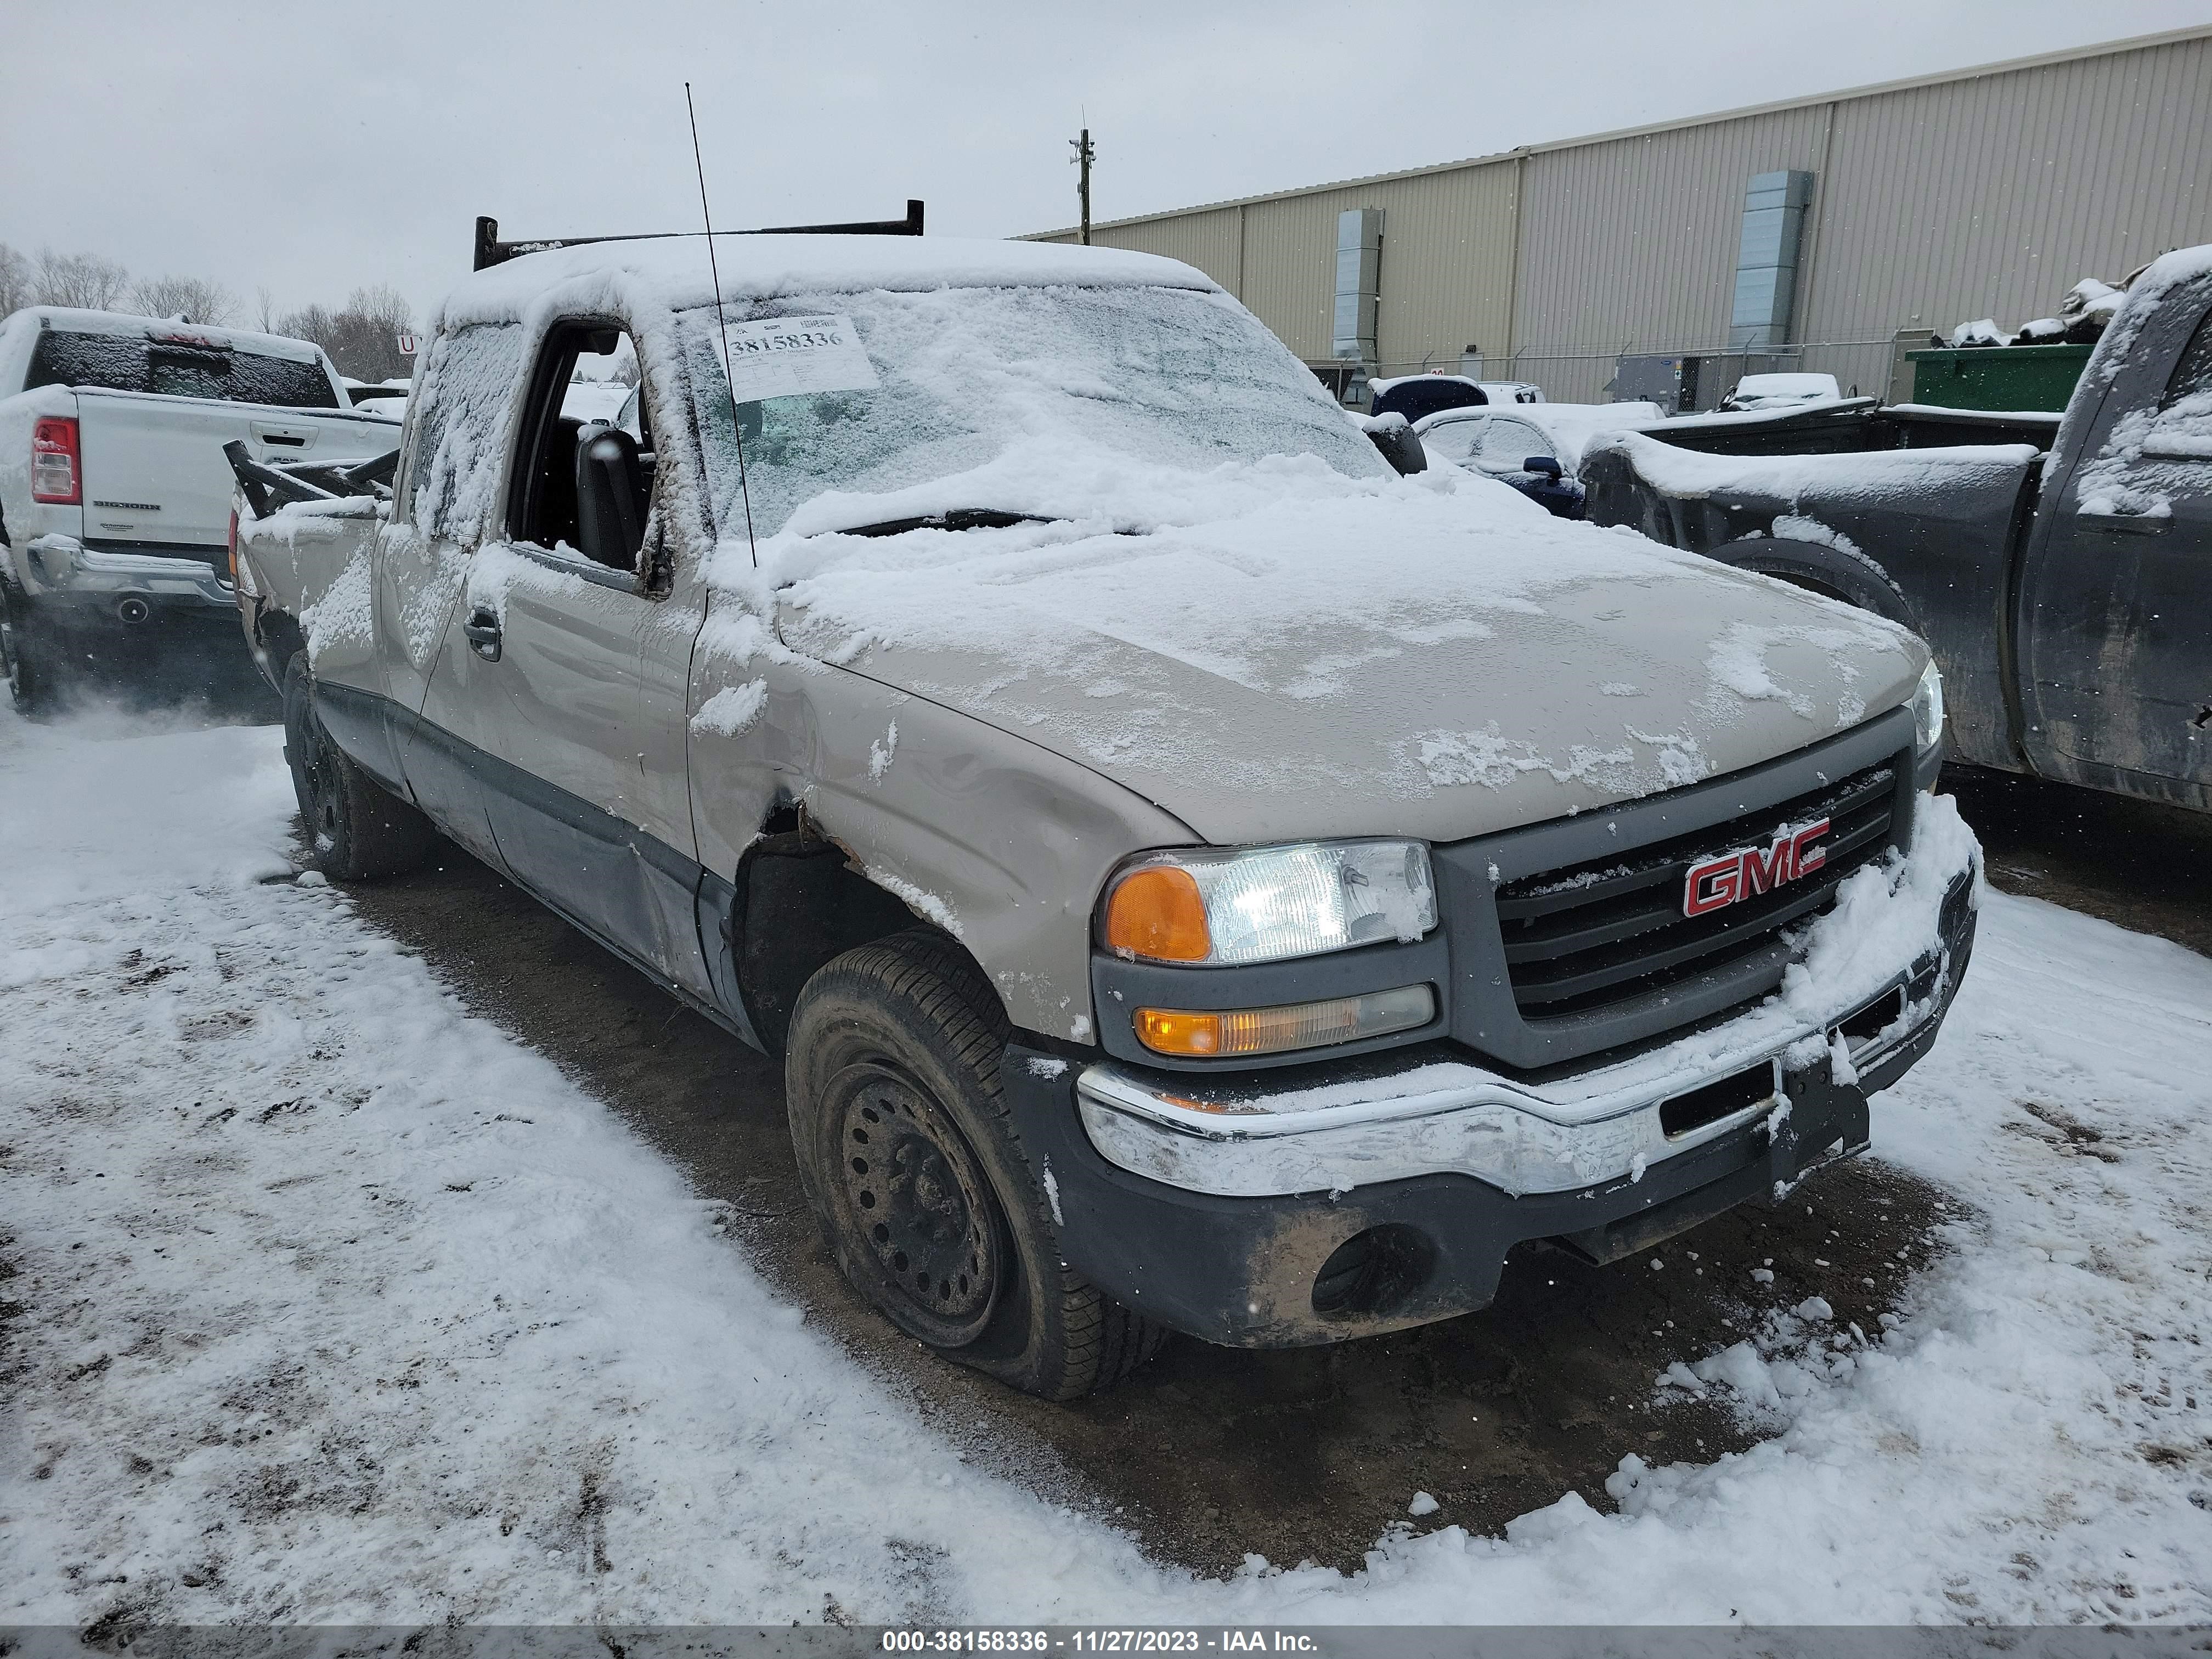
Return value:
M 2212 276 L 2143 319 L 2055 482 L 2020 591 L 2028 759 L 2212 807 Z

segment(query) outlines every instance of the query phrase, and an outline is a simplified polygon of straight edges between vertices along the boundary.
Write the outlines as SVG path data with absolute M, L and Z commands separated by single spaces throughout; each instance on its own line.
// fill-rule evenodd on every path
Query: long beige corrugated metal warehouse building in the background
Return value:
M 1093 241 L 1197 265 L 1338 383 L 1354 363 L 1467 369 L 1595 403 L 1639 356 L 1690 358 L 1683 407 L 1745 369 L 1889 394 L 1933 330 L 2048 316 L 2081 276 L 2212 241 L 2208 135 L 2212 27 L 1119 219 Z M 1621 394 L 1657 367 L 1626 365 Z

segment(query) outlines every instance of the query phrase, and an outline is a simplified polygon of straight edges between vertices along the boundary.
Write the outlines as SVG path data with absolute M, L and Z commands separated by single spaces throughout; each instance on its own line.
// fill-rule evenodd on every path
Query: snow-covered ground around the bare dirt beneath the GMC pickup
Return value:
M 290 880 L 288 821 L 274 730 L 0 714 L 0 1626 L 2212 1619 L 2181 947 L 1986 898 L 1876 1102 L 1953 1250 L 1891 1329 L 1774 1307 L 1652 1380 L 1739 1400 L 1752 1451 L 1214 1582 L 982 1473 L 611 1110 Z

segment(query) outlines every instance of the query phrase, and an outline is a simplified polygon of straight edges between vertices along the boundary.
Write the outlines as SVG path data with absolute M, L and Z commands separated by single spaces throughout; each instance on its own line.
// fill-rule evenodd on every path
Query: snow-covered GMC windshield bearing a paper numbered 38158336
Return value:
M 849 319 L 876 385 L 739 407 L 761 538 L 830 491 L 898 500 L 838 500 L 794 529 L 856 529 L 960 509 L 1075 515 L 1110 493 L 1102 484 L 1117 458 L 1188 473 L 1263 456 L 1318 456 L 1352 478 L 1389 471 L 1312 372 L 1221 294 L 876 290 L 728 312 L 732 330 L 776 316 Z M 714 310 L 686 312 L 681 327 L 714 518 L 737 526 L 743 518 Z M 938 482 L 945 489 L 931 491 Z

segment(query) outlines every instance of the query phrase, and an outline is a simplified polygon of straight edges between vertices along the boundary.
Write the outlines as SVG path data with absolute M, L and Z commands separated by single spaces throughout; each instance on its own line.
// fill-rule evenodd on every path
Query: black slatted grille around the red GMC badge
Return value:
M 1498 889 L 1506 978 L 1522 1020 L 1582 1015 L 1666 991 L 1767 947 L 1790 922 L 1889 849 L 1898 774 L 1869 765 L 1840 783 L 1626 856 L 1595 858 Z M 1767 847 L 1785 825 L 1829 821 L 1827 863 L 1812 876 L 1703 916 L 1683 916 L 1683 883 L 1701 858 Z

